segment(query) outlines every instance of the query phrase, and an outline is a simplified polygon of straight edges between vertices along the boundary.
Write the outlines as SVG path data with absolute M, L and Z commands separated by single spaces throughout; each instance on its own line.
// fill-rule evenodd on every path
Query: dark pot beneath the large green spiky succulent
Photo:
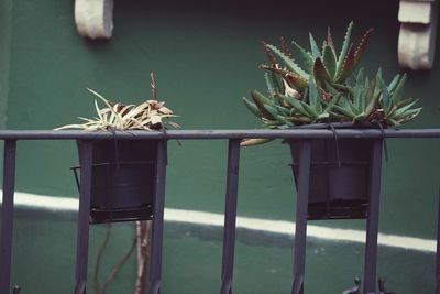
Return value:
M 349 127 L 353 128 L 352 124 Z M 348 126 L 333 124 L 333 130 L 341 128 Z M 292 166 L 298 187 L 300 144 L 297 140 L 287 142 L 290 145 L 294 161 Z M 337 134 L 332 139 L 311 140 L 308 219 L 367 217 L 373 143 L 374 139 L 338 139 Z

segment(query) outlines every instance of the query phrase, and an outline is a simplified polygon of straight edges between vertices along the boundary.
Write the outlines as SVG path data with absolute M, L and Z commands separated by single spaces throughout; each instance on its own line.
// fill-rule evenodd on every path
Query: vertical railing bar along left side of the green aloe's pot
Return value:
M 309 197 L 311 162 L 311 141 L 300 141 L 298 197 L 296 205 L 294 283 L 292 294 L 304 293 L 304 275 L 306 271 L 307 207 Z

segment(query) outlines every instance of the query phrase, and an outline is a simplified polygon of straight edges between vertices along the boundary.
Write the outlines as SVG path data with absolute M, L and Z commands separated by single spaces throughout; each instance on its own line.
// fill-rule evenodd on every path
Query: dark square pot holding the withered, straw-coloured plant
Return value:
M 155 140 L 92 142 L 90 224 L 153 218 L 157 146 Z

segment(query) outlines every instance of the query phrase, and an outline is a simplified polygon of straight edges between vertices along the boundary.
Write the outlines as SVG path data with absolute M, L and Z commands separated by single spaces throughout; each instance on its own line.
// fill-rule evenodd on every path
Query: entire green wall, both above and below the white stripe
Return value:
M 73 1 L 16 0 L 13 7 L 12 1 L 0 0 L 0 8 L 6 8 L 0 13 L 8 17 L 0 18 L 0 23 L 6 23 L 0 26 L 0 33 L 8 36 L 10 32 L 6 39 L 0 36 L 0 108 L 8 102 L 8 129 L 52 129 L 75 122 L 77 116 L 92 116 L 94 97 L 86 87 L 116 100 L 139 102 L 150 96 L 151 70 L 156 72 L 160 98 L 166 99 L 182 116 L 178 122 L 185 129 L 260 128 L 241 102 L 241 97 L 249 95 L 251 88 L 263 90 L 265 87 L 263 74 L 256 68 L 265 62 L 260 42 L 275 43 L 285 35 L 305 43 L 308 31 L 321 39 L 330 24 L 340 44 L 341 34 L 352 19 L 358 37 L 370 26 L 376 29 L 364 65 L 371 72 L 382 66 L 388 79 L 399 72 L 397 1 L 387 1 L 386 6 L 380 0 L 302 1 L 300 4 L 284 0 L 270 4 L 116 1 L 111 41 L 87 41 L 77 35 Z M 408 75 L 406 92 L 419 97 L 424 107 L 421 117 L 408 128 L 439 128 L 439 51 L 432 70 Z M 387 143 L 391 160 L 384 163 L 383 171 L 381 231 L 433 239 L 440 144 L 432 140 L 388 140 Z M 74 142 L 19 142 L 18 152 L 19 190 L 77 195 L 68 168 L 77 164 Z M 167 207 L 221 213 L 226 157 L 226 141 L 184 141 L 183 146 L 172 142 Z M 241 216 L 294 219 L 295 194 L 288 163 L 287 148 L 279 143 L 242 151 Z M 69 293 L 74 222 L 34 221 L 33 216 L 21 216 L 15 224 L 14 282 L 26 285 L 25 293 L 40 294 L 43 288 L 46 294 Z M 319 225 L 364 228 L 363 221 Z M 99 228 L 91 231 L 91 259 L 101 235 Z M 118 246 L 112 251 L 114 257 L 124 252 L 131 238 L 130 228 L 121 229 L 119 235 L 120 244 L 116 241 Z M 321 247 L 328 250 L 323 258 L 319 255 Z M 339 293 L 359 275 L 362 247 L 344 243 L 329 247 L 319 241 L 310 247 L 308 293 Z M 164 293 L 218 292 L 219 239 L 172 233 L 166 236 L 165 248 Z M 432 292 L 432 254 L 386 248 L 380 254 L 381 273 L 397 293 Z M 237 269 L 237 293 L 288 292 L 290 255 L 292 249 L 279 244 L 239 243 L 238 264 L 241 265 Z M 332 273 L 330 277 L 326 277 L 328 272 Z M 200 285 L 191 283 L 197 274 L 204 275 Z M 133 269 L 123 276 L 120 286 L 127 288 L 132 284 Z

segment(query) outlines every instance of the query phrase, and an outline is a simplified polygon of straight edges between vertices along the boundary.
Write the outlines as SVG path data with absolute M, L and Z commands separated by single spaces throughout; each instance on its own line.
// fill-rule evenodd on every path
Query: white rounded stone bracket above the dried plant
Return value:
M 90 39 L 110 39 L 113 31 L 113 0 L 75 0 L 78 33 Z

